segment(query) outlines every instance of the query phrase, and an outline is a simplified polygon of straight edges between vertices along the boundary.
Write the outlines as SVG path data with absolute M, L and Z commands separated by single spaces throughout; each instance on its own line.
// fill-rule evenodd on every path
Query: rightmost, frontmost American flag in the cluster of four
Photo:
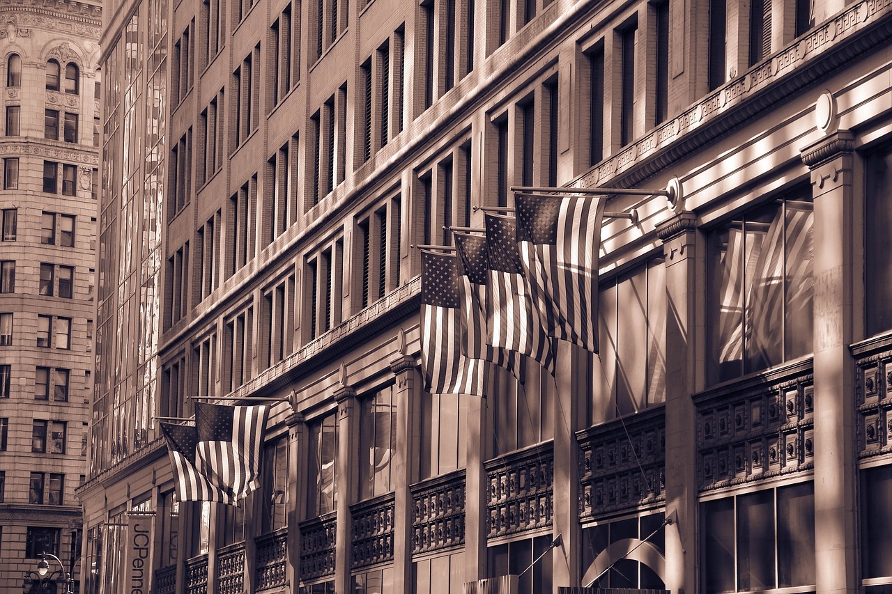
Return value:
M 516 194 L 517 242 L 549 336 L 598 352 L 600 196 Z

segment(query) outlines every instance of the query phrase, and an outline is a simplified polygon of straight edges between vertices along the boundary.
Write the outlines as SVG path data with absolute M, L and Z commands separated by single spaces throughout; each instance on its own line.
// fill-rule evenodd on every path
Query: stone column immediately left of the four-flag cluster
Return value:
M 414 357 L 400 354 L 390 361 L 396 375 L 396 450 L 393 452 L 393 591 L 410 592 L 412 583 L 413 502 L 409 485 L 417 481 L 416 404 L 421 377 Z

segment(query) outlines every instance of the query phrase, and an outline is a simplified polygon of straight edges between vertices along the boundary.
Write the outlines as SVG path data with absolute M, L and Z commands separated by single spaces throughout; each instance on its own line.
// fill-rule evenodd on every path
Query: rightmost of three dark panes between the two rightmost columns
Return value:
M 814 584 L 814 483 L 777 492 L 778 587 Z

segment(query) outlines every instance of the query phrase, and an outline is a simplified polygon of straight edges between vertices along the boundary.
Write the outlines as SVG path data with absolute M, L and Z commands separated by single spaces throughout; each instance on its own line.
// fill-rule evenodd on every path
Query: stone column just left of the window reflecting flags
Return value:
M 672 524 L 665 528 L 665 588 L 694 594 L 697 574 L 697 339 L 704 336 L 704 294 L 698 278 L 703 260 L 698 251 L 696 217 L 682 211 L 657 227 L 665 255 L 665 509 Z

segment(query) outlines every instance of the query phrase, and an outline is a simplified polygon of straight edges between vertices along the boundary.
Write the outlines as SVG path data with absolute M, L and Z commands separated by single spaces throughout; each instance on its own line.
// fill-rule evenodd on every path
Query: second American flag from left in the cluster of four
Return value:
M 493 347 L 487 342 L 486 304 L 489 247 L 483 235 L 454 233 L 458 253 L 458 287 L 461 296 L 461 351 L 471 359 L 483 359 L 520 377 L 520 357 L 514 351 Z

